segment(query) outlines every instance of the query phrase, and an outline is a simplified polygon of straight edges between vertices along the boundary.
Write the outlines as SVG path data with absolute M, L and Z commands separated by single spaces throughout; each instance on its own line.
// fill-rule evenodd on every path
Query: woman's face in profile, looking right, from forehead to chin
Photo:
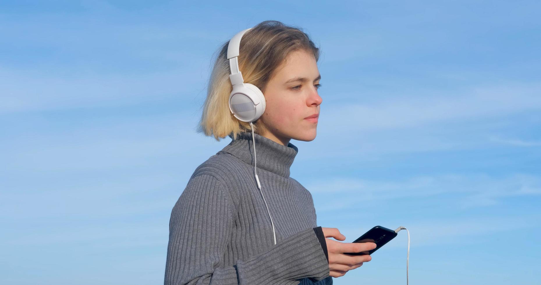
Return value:
M 259 120 L 265 125 L 263 136 L 287 145 L 289 140 L 315 138 L 322 98 L 318 94 L 320 74 L 312 54 L 293 51 L 267 83 L 265 112 Z

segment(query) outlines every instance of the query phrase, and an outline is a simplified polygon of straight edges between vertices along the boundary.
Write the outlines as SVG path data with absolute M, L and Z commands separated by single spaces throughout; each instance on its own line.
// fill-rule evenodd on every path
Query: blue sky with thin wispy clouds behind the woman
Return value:
M 0 283 L 160 284 L 213 52 L 268 19 L 321 48 L 291 176 L 352 242 L 411 232 L 412 284 L 538 284 L 537 1 L 0 3 Z M 407 234 L 335 284 L 405 283 Z

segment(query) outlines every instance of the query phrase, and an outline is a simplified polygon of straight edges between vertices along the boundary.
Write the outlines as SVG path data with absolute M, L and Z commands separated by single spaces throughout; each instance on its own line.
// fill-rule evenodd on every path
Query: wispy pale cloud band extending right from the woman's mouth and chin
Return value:
M 393 100 L 373 104 L 322 105 L 321 125 L 340 131 L 373 131 L 420 127 L 479 118 L 503 117 L 521 111 L 541 109 L 539 84 L 473 87 L 457 94 L 418 97 L 412 91 Z

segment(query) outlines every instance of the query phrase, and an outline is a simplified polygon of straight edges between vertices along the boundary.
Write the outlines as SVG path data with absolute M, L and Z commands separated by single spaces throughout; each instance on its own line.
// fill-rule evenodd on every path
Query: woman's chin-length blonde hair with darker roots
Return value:
M 229 110 L 229 94 L 233 90 L 229 81 L 229 59 L 227 46 L 229 40 L 217 50 L 213 70 L 207 88 L 207 98 L 203 104 L 201 120 L 197 132 L 214 136 L 216 141 L 229 136 L 236 140 L 243 131 L 251 131 L 248 122 L 237 120 Z M 264 21 L 255 25 L 242 36 L 239 51 L 239 70 L 244 82 L 258 87 L 264 94 L 268 81 L 292 51 L 304 50 L 319 60 L 319 48 L 315 47 L 309 36 L 300 28 L 287 26 L 279 21 Z M 265 126 L 253 122 L 254 132 L 262 134 Z

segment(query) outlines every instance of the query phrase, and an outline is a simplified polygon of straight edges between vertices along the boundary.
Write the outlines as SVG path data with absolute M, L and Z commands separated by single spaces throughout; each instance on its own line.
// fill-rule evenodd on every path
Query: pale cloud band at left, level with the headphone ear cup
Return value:
M 0 70 L 3 103 L 0 114 L 70 108 L 110 107 L 140 102 L 202 96 L 203 85 L 195 72 L 153 72 L 149 74 L 98 75 L 93 72 L 73 76 L 51 75 L 40 71 Z M 183 106 L 180 105 L 179 108 Z

